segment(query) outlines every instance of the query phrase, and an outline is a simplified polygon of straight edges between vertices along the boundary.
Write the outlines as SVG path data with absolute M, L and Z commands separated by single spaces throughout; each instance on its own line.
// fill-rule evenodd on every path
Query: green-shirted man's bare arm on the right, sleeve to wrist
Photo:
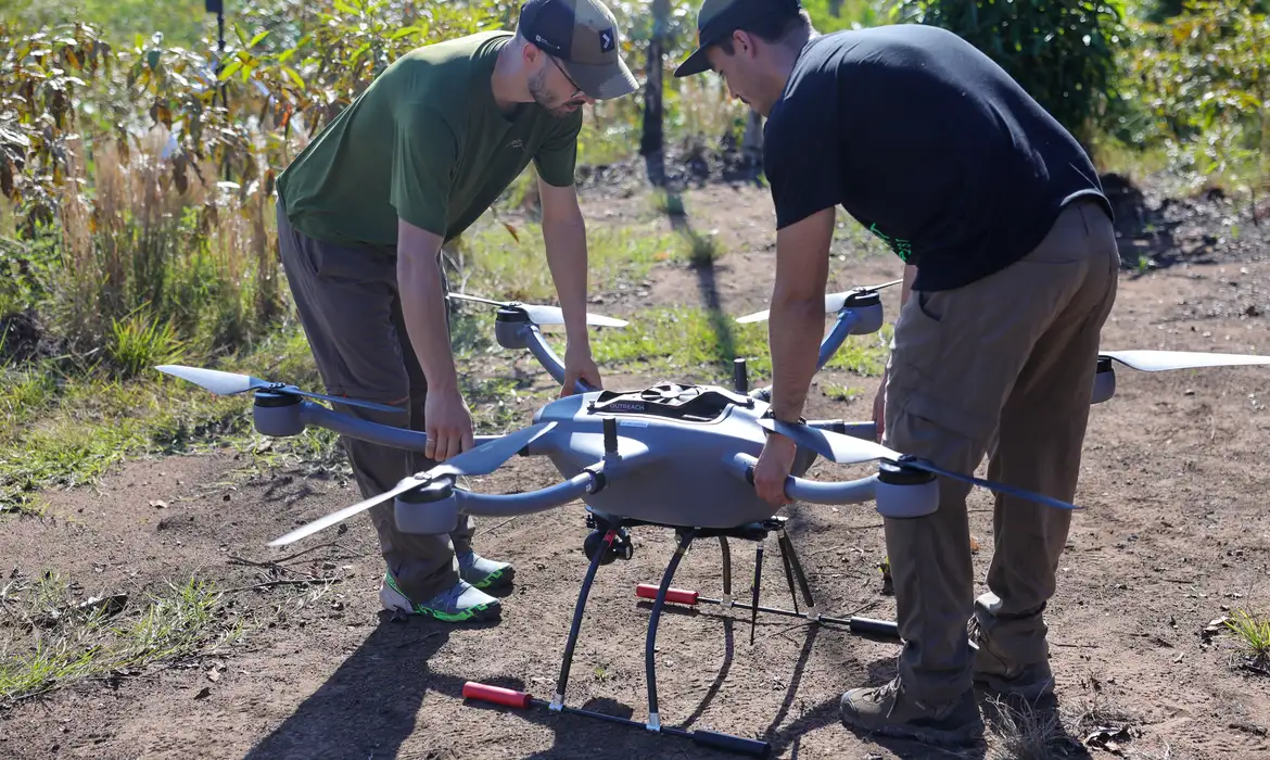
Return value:
M 555 282 L 569 348 L 589 351 L 587 334 L 587 225 L 572 184 L 556 187 L 538 178 L 542 200 L 542 244 Z

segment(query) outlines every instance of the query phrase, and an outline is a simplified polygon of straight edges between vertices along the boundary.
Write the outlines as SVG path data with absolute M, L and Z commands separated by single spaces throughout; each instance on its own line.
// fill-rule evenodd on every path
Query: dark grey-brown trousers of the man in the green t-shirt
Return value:
M 362 419 L 423 431 L 427 383 L 401 316 L 396 261 L 370 248 L 314 240 L 295 230 L 278 202 L 278 243 L 287 282 L 326 393 L 409 408 L 389 413 L 338 407 Z M 448 329 L 448 324 L 447 324 Z M 362 492 L 370 498 L 437 463 L 405 451 L 340 438 Z M 380 553 L 401 591 L 417 604 L 458 582 L 455 552 L 471 549 L 472 520 L 461 516 L 448 536 L 401 533 L 392 501 L 371 507 Z

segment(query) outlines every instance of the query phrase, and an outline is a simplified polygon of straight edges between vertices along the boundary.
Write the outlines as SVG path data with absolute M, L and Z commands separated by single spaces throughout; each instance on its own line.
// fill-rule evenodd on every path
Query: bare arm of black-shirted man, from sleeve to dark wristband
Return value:
M 772 414 L 803 413 L 824 337 L 824 286 L 829 276 L 834 208 L 831 206 L 776 233 L 776 285 L 768 310 L 772 352 Z

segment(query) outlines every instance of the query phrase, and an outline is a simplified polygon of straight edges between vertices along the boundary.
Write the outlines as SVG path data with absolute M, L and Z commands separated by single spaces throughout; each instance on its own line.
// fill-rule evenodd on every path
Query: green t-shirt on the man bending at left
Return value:
M 384 70 L 278 177 L 305 235 L 396 249 L 398 217 L 456 238 L 533 160 L 544 182 L 574 180 L 582 111 L 536 103 L 504 114 L 490 76 L 509 32 L 410 51 Z

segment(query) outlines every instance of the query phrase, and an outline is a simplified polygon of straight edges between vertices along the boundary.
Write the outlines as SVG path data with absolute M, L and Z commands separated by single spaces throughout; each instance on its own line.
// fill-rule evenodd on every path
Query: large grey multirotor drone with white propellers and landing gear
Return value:
M 818 369 L 824 366 L 848 336 L 869 334 L 881 328 L 883 306 L 878 291 L 889 285 L 894 282 L 826 297 L 826 310 L 834 315 L 834 323 L 820 343 Z M 497 305 L 494 333 L 499 344 L 509 349 L 528 349 L 558 383 L 564 381 L 564 366 L 540 330 L 542 324 L 563 322 L 558 308 L 489 301 L 460 294 L 451 297 Z M 759 313 L 740 320 L 756 322 L 765 318 L 766 313 Z M 607 327 L 626 324 L 597 315 L 588 315 L 588 323 Z M 1105 402 L 1115 391 L 1113 360 L 1146 371 L 1270 363 L 1270 357 L 1262 356 L 1105 352 L 1099 357 L 1095 403 Z M 309 426 L 318 426 L 386 446 L 417 451 L 424 447 L 425 435 L 420 431 L 366 422 L 309 399 L 376 408 L 381 408 L 381 404 L 324 397 L 302 391 L 293 385 L 215 370 L 177 365 L 157 369 L 217 394 L 254 391 L 255 430 L 268 436 L 293 436 Z M 775 421 L 767 414 L 768 389 L 748 389 L 744 360 L 735 361 L 732 389 L 667 381 L 629 391 L 599 390 L 579 384 L 575 391 L 542 405 L 535 412 L 531 424 L 503 435 L 476 436 L 476 447 L 405 478 L 382 494 L 298 527 L 269 545 L 281 546 L 301 540 L 390 499 L 394 499 L 394 515 L 400 530 L 429 535 L 453 530 L 461 513 L 486 517 L 527 515 L 582 499 L 587 525 L 593 529 L 584 545 L 591 564 L 574 607 L 573 625 L 552 699 L 545 702 L 523 691 L 475 682 L 465 684 L 464 695 L 521 708 L 546 705 L 558 712 L 585 714 L 687 737 L 721 750 L 767 756 L 771 746 L 766 741 L 700 728 L 688 731 L 662 723 L 657 699 L 654 642 L 658 620 L 667 601 L 712 602 L 748 609 L 752 639 L 753 621 L 759 611 L 805 618 L 814 623 L 843 624 L 853 633 L 898 639 L 893 621 L 857 616 L 838 619 L 817 611 L 801 563 L 785 531 L 786 519 L 779 516 L 779 510 L 758 498 L 754 492 L 753 466 L 770 431 L 789 436 L 799 446 L 792 474 L 785 485 L 785 493 L 795 501 L 819 505 L 874 502 L 876 511 L 884 516 L 917 517 L 936 510 L 936 477 L 946 477 L 1053 508 L 1076 508 L 1068 502 L 965 473 L 952 473 L 933 463 L 881 446 L 874 442 L 875 427 L 871 422 L 827 419 L 791 424 Z M 476 493 L 458 480 L 462 475 L 493 473 L 513 455 L 545 456 L 563 479 L 555 485 L 517 494 Z M 817 456 L 843 465 L 870 461 L 878 464 L 867 477 L 839 482 L 808 479 L 804 475 Z M 564 703 L 592 581 L 601 564 L 617 558 L 631 558 L 632 545 L 626 529 L 635 526 L 671 529 L 678 538 L 678 546 L 662 582 L 636 588 L 638 596 L 654 600 L 645 646 L 646 722 L 599 714 Z M 758 604 L 763 545 L 772 533 L 777 534 L 785 577 L 794 596 L 792 611 Z M 683 553 L 693 540 L 702 538 L 718 538 L 720 543 L 724 571 L 721 599 L 700 597 L 696 592 L 671 587 Z M 748 605 L 732 600 L 730 538 L 757 543 L 752 601 Z M 795 580 L 806 604 L 805 611 L 798 610 Z

